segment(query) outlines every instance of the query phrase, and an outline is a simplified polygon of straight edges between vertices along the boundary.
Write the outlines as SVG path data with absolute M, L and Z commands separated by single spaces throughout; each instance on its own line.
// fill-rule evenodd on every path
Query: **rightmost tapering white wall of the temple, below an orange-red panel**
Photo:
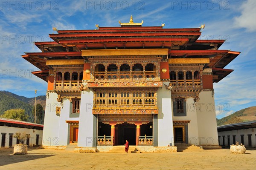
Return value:
M 215 102 L 212 92 L 200 92 L 197 102 L 198 143 L 199 145 L 218 145 L 218 132 Z

